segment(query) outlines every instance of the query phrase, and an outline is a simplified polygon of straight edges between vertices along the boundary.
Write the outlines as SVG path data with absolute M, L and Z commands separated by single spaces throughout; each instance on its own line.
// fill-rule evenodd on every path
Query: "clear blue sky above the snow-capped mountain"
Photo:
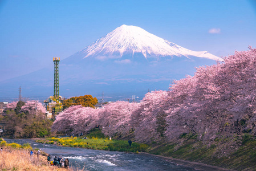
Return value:
M 0 80 L 53 66 L 121 25 L 217 56 L 256 47 L 256 2 L 3 1 Z

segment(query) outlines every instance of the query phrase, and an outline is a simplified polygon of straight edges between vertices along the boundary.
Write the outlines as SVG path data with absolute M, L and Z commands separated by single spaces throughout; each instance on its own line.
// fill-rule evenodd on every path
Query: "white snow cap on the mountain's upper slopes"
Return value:
M 159 38 L 140 27 L 122 25 L 109 34 L 90 44 L 79 54 L 84 54 L 84 58 L 97 55 L 118 55 L 125 53 L 141 53 L 145 58 L 155 57 L 157 59 L 165 56 L 196 56 L 212 60 L 222 60 L 207 51 L 192 51 L 178 46 L 168 40 Z

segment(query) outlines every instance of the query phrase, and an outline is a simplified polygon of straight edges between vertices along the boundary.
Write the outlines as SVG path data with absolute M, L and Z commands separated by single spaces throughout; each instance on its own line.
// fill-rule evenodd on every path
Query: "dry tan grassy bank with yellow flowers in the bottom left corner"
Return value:
M 47 157 L 40 155 L 36 157 L 36 149 L 33 156 L 30 156 L 32 147 L 30 144 L 6 143 L 0 139 L 0 146 L 3 152 L 0 152 L 0 170 L 38 170 L 38 171 L 64 171 L 67 169 L 50 166 L 47 164 Z M 72 168 L 70 170 L 73 170 Z

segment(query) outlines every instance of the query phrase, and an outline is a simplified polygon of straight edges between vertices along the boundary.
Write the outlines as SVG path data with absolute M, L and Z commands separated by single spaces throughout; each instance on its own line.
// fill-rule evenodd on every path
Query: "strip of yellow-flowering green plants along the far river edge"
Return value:
M 128 141 L 123 140 L 109 140 L 108 138 L 99 139 L 97 137 L 91 137 L 91 139 L 80 139 L 77 137 L 65 137 L 65 138 L 48 138 L 48 141 L 56 141 L 58 145 L 71 146 L 88 149 L 98 150 L 115 150 L 121 152 L 145 152 L 149 148 L 147 144 L 132 143 L 129 146 Z

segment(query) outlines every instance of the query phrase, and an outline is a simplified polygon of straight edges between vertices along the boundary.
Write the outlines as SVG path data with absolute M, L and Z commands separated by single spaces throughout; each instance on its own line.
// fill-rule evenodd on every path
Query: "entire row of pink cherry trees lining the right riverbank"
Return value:
M 256 49 L 235 52 L 194 76 L 174 80 L 169 91 L 152 91 L 140 103 L 116 101 L 101 109 L 72 106 L 56 116 L 59 132 L 87 132 L 100 126 L 104 135 L 135 130 L 139 142 L 173 141 L 192 134 L 204 141 L 256 135 Z

